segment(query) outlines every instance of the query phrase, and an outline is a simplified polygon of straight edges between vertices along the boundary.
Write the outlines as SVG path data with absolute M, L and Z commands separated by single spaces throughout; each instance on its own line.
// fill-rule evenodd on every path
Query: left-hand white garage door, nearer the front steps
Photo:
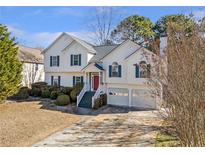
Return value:
M 129 106 L 129 91 L 125 88 L 109 88 L 108 104 Z

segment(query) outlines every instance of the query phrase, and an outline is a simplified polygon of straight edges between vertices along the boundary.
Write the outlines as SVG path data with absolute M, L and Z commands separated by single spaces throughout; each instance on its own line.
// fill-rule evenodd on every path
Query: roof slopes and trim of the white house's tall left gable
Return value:
M 71 34 L 68 34 L 68 33 L 66 33 L 66 32 L 63 32 L 61 35 L 59 35 L 59 36 L 55 39 L 55 41 L 53 41 L 45 50 L 43 50 L 43 53 L 45 53 L 48 49 L 50 49 L 50 48 L 51 48 L 62 36 L 64 36 L 64 35 L 67 35 L 67 36 L 71 37 L 74 41 L 78 42 L 78 43 L 81 44 L 83 47 L 85 47 L 86 49 L 88 49 L 89 52 L 91 52 L 91 53 L 96 53 L 96 51 L 95 51 L 95 49 L 93 48 L 93 45 L 92 45 L 92 44 L 90 44 L 90 43 L 88 43 L 88 42 L 86 42 L 86 41 L 84 41 L 84 40 L 82 40 L 82 39 L 79 39 L 79 38 L 77 38 L 77 37 L 75 37 L 75 36 L 73 36 L 73 35 L 71 35 Z M 68 44 L 68 46 L 69 46 L 69 44 Z

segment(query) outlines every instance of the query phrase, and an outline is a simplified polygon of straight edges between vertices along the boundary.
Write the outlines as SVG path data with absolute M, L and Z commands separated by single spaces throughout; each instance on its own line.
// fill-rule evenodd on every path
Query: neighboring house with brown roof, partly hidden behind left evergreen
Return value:
M 23 62 L 22 85 L 30 87 L 34 82 L 44 81 L 42 49 L 19 45 L 18 59 Z

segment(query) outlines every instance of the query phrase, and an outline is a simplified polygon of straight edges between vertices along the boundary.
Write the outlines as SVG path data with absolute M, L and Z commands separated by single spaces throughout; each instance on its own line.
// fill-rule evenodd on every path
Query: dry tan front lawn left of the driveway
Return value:
M 31 146 L 80 120 L 77 115 L 41 109 L 39 103 L 0 104 L 0 146 Z

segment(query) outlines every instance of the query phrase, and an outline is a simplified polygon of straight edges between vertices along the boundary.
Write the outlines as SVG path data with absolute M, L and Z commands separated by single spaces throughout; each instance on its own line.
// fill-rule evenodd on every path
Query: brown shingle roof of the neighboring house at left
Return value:
M 22 45 L 18 45 L 18 48 L 17 58 L 20 61 L 43 64 L 43 55 L 41 54 L 43 49 L 31 48 Z

